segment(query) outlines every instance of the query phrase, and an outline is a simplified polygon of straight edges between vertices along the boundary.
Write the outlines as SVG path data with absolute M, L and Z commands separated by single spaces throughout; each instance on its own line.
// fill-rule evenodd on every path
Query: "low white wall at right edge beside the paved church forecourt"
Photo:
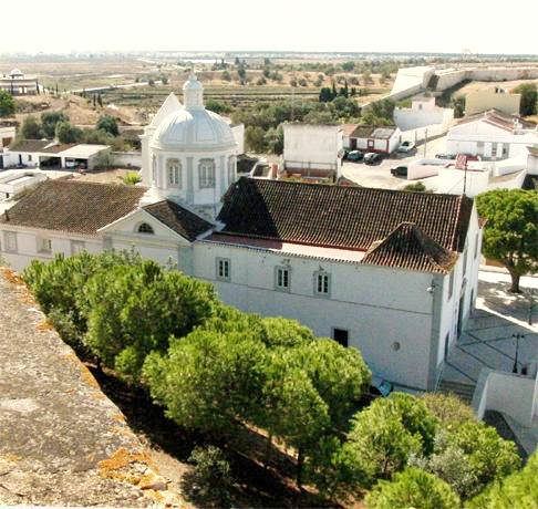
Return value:
M 537 380 L 484 368 L 478 377 L 473 408 L 479 419 L 486 411 L 503 412 L 524 426 L 531 426 L 537 411 Z

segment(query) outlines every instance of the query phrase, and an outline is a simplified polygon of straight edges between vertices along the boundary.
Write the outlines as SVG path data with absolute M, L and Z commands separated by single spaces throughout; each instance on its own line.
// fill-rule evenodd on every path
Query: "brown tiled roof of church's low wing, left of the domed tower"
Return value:
M 0 224 L 95 235 L 134 210 L 145 191 L 120 184 L 46 180 L 0 216 Z

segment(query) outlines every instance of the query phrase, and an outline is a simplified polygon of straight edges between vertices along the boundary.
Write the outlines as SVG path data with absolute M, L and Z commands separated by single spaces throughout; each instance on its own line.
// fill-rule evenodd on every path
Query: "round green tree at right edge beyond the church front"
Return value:
M 506 267 L 510 291 L 519 293 L 519 278 L 538 270 L 538 193 L 495 189 L 478 195 L 476 205 L 487 220 L 483 252 Z

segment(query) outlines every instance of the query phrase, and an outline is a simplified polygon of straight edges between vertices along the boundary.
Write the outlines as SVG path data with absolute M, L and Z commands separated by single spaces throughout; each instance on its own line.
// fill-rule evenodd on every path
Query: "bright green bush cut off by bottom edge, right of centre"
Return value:
M 457 509 L 459 499 L 443 480 L 418 468 L 406 468 L 392 481 L 381 480 L 366 496 L 370 509 Z

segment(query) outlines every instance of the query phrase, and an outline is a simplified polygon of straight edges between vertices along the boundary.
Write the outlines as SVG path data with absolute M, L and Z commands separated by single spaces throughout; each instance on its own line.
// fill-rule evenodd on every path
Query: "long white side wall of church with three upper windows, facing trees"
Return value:
M 216 281 L 218 257 L 230 259 L 231 282 Z M 276 291 L 275 268 L 286 260 L 291 289 Z M 331 274 L 330 298 L 313 293 L 320 267 Z M 319 336 L 331 336 L 332 328 L 349 330 L 350 345 L 361 350 L 375 373 L 427 386 L 432 274 L 196 242 L 194 276 L 214 282 L 220 298 L 241 310 L 297 319 Z M 394 342 L 401 343 L 399 351 Z

